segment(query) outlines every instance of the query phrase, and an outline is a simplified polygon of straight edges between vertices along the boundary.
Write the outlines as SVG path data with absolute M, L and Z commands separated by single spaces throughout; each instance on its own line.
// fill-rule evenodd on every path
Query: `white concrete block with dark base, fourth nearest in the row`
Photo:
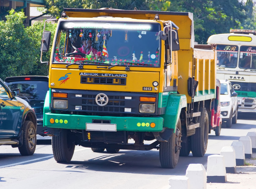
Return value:
M 226 173 L 236 173 L 236 152 L 232 146 L 221 149 L 220 155 L 224 156 Z

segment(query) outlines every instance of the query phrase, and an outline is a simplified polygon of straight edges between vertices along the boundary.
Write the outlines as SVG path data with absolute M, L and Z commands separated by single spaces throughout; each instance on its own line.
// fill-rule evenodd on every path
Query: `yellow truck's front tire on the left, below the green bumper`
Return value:
M 71 161 L 75 151 L 75 143 L 71 140 L 68 130 L 62 129 L 59 136 L 52 137 L 52 151 L 55 161 Z

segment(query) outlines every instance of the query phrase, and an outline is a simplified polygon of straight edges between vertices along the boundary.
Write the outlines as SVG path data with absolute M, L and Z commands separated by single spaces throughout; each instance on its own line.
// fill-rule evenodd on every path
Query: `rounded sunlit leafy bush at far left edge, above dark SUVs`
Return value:
M 6 16 L 6 21 L 0 21 L 0 77 L 26 75 L 33 70 L 34 49 L 24 30 L 24 13 L 14 13 Z

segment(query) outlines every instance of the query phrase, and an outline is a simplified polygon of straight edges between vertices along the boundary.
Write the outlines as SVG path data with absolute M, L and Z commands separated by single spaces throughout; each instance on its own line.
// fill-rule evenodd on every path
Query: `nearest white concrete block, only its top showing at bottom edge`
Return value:
M 169 189 L 190 189 L 189 178 L 186 176 L 174 176 L 169 178 Z

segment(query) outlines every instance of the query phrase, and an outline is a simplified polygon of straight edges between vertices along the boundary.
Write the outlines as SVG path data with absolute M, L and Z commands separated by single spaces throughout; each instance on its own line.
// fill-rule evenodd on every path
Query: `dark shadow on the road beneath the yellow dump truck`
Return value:
M 96 152 L 94 152 L 96 153 Z M 101 156 L 85 161 L 71 161 L 66 164 L 68 169 L 83 169 L 101 172 L 121 172 L 152 175 L 185 175 L 187 166 L 191 163 L 203 164 L 207 162 L 204 157 L 180 157 L 175 169 L 161 168 L 158 151 L 120 151 L 117 154 L 101 153 Z

